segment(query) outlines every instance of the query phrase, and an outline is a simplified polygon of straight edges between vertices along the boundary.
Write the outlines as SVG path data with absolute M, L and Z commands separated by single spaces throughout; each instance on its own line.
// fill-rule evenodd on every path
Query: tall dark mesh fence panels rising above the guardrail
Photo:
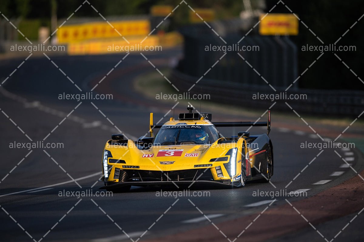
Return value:
M 225 54 L 205 74 L 206 78 L 251 86 L 264 86 L 265 79 L 276 88 L 288 87 L 297 78 L 297 47 L 289 37 L 259 36 L 254 33 L 256 28 L 245 36 L 238 22 L 218 22 L 211 26 L 227 28 L 222 36 L 226 44 L 206 25 L 181 29 L 185 38 L 184 58 L 178 70 L 182 73 L 200 77 Z M 211 50 L 213 46 L 217 50 Z M 224 52 L 223 48 L 234 49 Z M 293 88 L 297 88 L 297 82 Z

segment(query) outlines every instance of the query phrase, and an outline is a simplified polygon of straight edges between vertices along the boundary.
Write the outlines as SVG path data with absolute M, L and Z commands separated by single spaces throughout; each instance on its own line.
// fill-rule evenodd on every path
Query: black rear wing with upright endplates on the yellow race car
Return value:
M 267 122 L 214 122 L 215 127 L 263 127 L 267 126 L 267 135 L 270 133 L 270 110 L 268 110 Z M 163 124 L 153 124 L 153 113 L 150 113 L 149 132 L 151 137 L 153 135 L 153 128 L 161 128 Z

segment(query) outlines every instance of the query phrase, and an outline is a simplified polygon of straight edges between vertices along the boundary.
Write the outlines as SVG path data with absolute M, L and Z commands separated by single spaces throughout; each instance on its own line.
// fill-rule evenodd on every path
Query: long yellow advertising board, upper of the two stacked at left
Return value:
M 112 21 L 110 24 L 107 22 L 90 22 L 63 25 L 57 31 L 57 38 L 60 44 L 64 44 L 97 38 L 120 37 L 119 33 L 122 36 L 147 36 L 150 33 L 150 23 L 148 20 L 128 20 Z

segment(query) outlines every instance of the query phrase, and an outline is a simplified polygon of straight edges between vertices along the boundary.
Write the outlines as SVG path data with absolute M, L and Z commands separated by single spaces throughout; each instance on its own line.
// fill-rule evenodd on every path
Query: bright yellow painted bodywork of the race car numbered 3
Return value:
M 151 122 L 153 123 L 153 116 L 151 115 Z M 174 125 L 178 123 L 185 123 L 186 125 L 197 124 L 211 124 L 206 119 L 201 120 L 173 120 L 166 122 L 165 125 Z M 245 162 L 245 155 L 242 155 L 243 142 L 246 143 L 244 138 L 239 138 L 232 143 L 221 143 L 224 138 L 216 140 L 212 144 L 201 145 L 158 145 L 152 146 L 149 149 L 139 149 L 132 140 L 128 140 L 127 144 L 110 144 L 109 140 L 104 151 L 110 151 L 112 157 L 108 157 L 108 165 L 112 165 L 108 181 L 118 181 L 114 179 L 115 168 L 120 170 L 146 170 L 146 171 L 180 171 L 188 169 L 210 169 L 214 180 L 232 180 L 240 177 L 241 164 Z M 246 145 L 245 145 L 246 147 Z M 234 157 L 227 155 L 230 149 L 234 149 Z M 245 148 L 246 149 L 246 148 Z M 243 152 L 243 154 L 245 154 Z M 220 157 L 226 157 L 223 161 L 213 161 Z M 110 162 L 113 159 L 113 162 Z M 122 160 L 125 163 L 115 163 L 115 160 Z M 230 174 L 225 168 L 224 164 L 230 163 Z M 198 166 L 197 165 L 204 165 Z M 128 168 L 128 166 L 133 166 Z M 138 168 L 135 168 L 137 166 Z M 220 166 L 223 177 L 218 177 L 215 167 Z M 208 172 L 208 171 L 206 171 Z M 233 174 L 231 174 L 233 173 Z

